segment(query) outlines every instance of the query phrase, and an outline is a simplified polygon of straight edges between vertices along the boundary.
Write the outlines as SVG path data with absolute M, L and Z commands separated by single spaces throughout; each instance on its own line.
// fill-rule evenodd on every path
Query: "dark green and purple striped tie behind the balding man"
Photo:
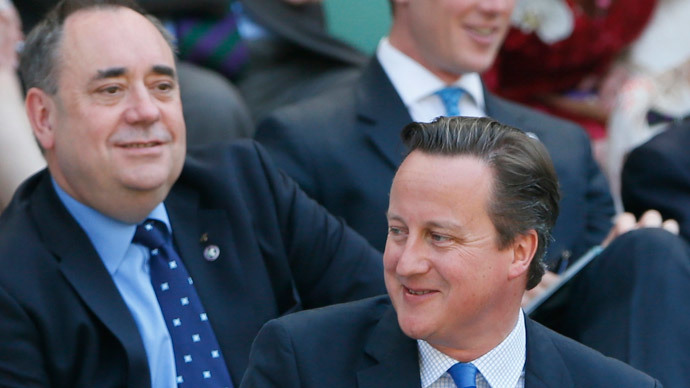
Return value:
M 221 18 L 182 18 L 175 22 L 180 58 L 234 78 L 249 59 L 232 9 Z

